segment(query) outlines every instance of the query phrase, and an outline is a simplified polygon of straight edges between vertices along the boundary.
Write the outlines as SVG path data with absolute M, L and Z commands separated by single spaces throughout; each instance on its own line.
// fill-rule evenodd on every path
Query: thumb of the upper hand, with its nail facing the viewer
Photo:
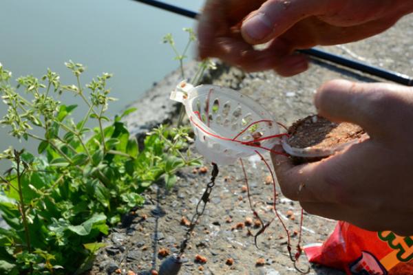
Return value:
M 242 23 L 242 36 L 251 44 L 271 41 L 295 23 L 312 15 L 337 10 L 340 1 L 268 0 Z M 341 6 L 341 5 L 340 5 Z

